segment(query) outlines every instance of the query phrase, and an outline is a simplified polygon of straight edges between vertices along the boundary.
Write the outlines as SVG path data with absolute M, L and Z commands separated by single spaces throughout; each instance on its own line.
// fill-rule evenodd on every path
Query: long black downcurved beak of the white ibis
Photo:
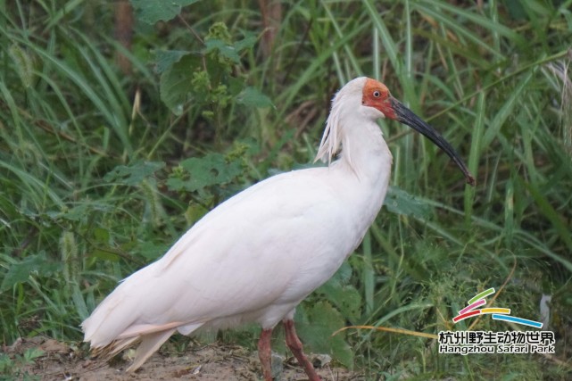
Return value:
M 394 97 L 390 97 L 389 102 L 391 103 L 392 109 L 395 113 L 395 120 L 402 122 L 410 126 L 410 128 L 415 129 L 417 132 L 425 135 L 429 138 L 435 145 L 444 150 L 445 153 L 449 155 L 459 169 L 465 175 L 467 184 L 475 186 L 475 178 L 468 172 L 467 165 L 460 159 L 458 153 L 455 152 L 453 147 L 442 137 L 435 128 L 429 126 L 427 122 L 415 115 L 410 109 L 405 107 L 401 102 L 396 100 Z

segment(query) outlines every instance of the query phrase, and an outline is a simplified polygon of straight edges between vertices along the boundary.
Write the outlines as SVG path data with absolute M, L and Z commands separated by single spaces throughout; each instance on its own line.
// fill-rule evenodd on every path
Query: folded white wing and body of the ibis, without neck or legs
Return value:
M 324 171 L 287 172 L 221 203 L 97 307 L 82 325 L 86 340 L 96 347 L 232 317 L 276 324 L 359 244 Z

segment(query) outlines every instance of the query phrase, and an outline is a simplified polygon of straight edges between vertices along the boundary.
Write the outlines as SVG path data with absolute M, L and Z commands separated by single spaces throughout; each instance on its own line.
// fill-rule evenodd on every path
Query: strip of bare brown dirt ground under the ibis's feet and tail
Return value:
M 3 348 L 12 359 L 16 359 L 30 348 L 43 351 L 43 355 L 33 363 L 19 369 L 42 380 L 102 381 L 102 380 L 200 380 L 200 381 L 245 381 L 260 380 L 261 371 L 256 352 L 248 352 L 236 345 L 210 344 L 189 348 L 187 352 L 153 354 L 135 374 L 126 374 L 128 360 L 88 359 L 78 349 L 46 337 L 35 337 L 16 342 Z M 129 352 L 127 352 L 129 353 Z M 327 356 L 310 355 L 317 371 L 324 381 L 361 381 L 359 374 L 343 368 L 330 367 Z M 323 362 L 323 363 L 321 363 Z M 273 368 L 278 374 L 277 381 L 307 380 L 305 373 L 295 360 L 273 358 Z M 2 377 L 0 377 L 2 378 Z

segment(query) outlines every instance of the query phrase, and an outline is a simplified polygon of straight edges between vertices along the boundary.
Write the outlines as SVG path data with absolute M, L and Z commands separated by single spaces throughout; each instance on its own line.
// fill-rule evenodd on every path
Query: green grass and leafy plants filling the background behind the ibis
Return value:
M 112 3 L 0 4 L 3 344 L 79 341 L 79 322 L 117 280 L 206 211 L 311 162 L 333 93 L 367 75 L 444 134 L 477 186 L 426 139 L 381 122 L 394 188 L 357 253 L 300 307 L 304 341 L 369 379 L 569 377 L 558 359 L 570 357 L 572 327 L 572 2 L 283 4 L 268 57 L 254 4 L 197 3 L 160 26 L 138 21 L 130 74 L 114 62 Z M 238 59 L 215 48 L 181 68 L 155 61 L 203 51 L 209 38 L 243 41 Z M 194 84 L 188 98 L 170 70 Z M 179 166 L 191 157 L 204 158 L 198 184 Z M 235 170 L 207 178 L 221 161 Z M 557 360 L 439 355 L 432 340 L 379 331 L 323 339 L 359 324 L 436 334 L 468 298 L 502 285 L 495 306 L 528 319 L 552 296 Z M 473 329 L 509 326 L 481 319 Z

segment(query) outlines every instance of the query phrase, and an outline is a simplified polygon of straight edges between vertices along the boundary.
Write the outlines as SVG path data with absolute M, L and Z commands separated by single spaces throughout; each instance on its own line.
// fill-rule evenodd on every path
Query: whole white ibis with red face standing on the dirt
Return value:
M 99 304 L 81 325 L 85 341 L 112 354 L 140 341 L 133 371 L 175 331 L 256 322 L 262 373 L 271 381 L 270 336 L 283 321 L 287 346 L 319 380 L 294 330 L 294 310 L 356 249 L 384 202 L 392 164 L 376 123 L 384 117 L 428 137 L 474 185 L 452 146 L 385 85 L 353 79 L 327 118 L 316 158 L 327 167 L 267 178 L 221 203 Z

